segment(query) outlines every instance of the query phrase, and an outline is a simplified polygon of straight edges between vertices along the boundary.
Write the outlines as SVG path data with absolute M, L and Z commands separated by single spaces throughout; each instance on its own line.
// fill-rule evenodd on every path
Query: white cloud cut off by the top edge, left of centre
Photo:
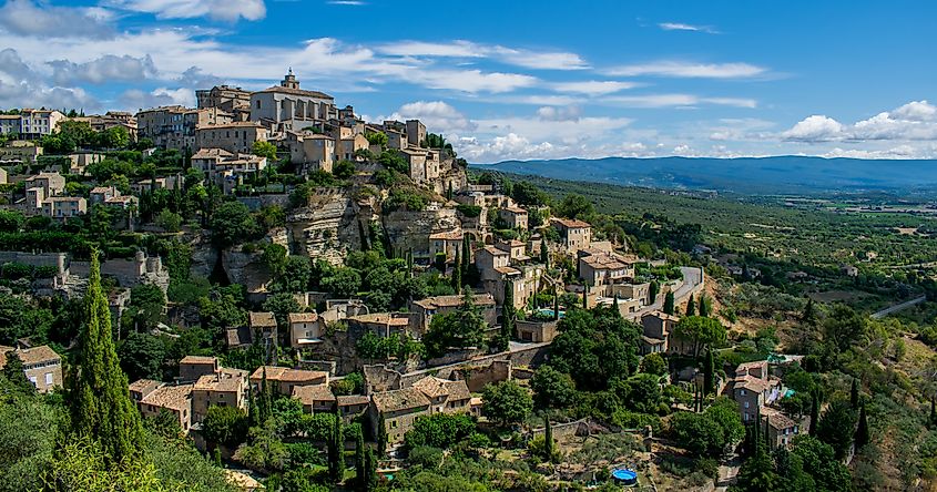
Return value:
M 210 19 L 234 22 L 238 19 L 256 21 L 267 14 L 264 0 L 112 0 L 111 6 L 135 12 L 146 12 L 160 19 Z

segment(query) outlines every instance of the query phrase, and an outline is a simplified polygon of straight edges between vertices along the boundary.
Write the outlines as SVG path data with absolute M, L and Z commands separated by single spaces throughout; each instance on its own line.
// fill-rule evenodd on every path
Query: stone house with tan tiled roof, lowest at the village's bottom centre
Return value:
M 414 428 L 417 418 L 429 414 L 430 401 L 417 388 L 405 388 L 371 394 L 368 421 L 377 435 L 380 419 L 387 431 L 387 442 L 397 444 Z

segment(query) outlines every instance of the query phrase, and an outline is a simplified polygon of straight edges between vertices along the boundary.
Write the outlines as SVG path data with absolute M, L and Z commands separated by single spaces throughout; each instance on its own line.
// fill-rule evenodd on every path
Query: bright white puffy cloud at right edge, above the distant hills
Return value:
M 844 125 L 825 116 L 813 115 L 797 122 L 781 137 L 796 142 L 834 141 L 935 141 L 937 140 L 937 106 L 927 101 L 911 101 L 893 111 L 885 111 L 867 120 Z

